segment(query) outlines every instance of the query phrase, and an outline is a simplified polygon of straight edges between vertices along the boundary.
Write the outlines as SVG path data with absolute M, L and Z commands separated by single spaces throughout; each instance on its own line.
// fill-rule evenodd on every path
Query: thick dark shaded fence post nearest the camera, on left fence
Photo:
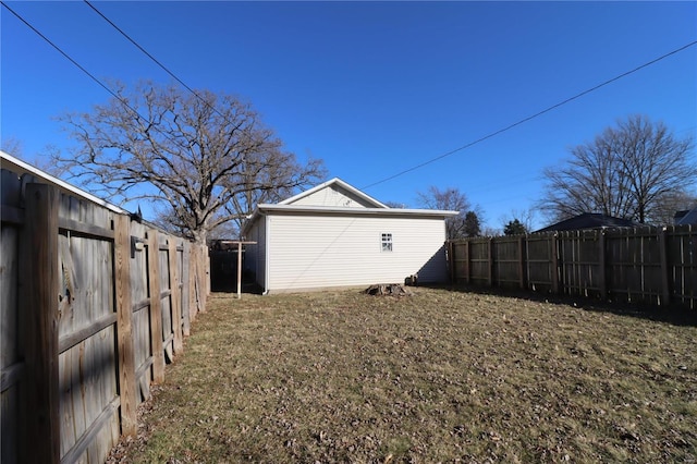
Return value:
M 25 198 L 20 298 L 26 318 L 26 369 L 17 448 L 21 462 L 59 463 L 59 192 L 51 185 L 27 184 Z

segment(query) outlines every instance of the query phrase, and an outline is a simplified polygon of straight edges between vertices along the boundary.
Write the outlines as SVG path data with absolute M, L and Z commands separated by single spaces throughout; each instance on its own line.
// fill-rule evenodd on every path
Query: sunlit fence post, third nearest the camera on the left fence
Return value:
M 160 300 L 160 259 L 158 232 L 148 231 L 148 293 L 150 294 L 150 346 L 152 380 L 164 381 L 164 346 L 162 346 L 162 301 Z

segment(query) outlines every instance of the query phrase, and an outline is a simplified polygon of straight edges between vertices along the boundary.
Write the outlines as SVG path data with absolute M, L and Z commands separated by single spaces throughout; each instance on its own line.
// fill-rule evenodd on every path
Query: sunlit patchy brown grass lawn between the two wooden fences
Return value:
M 213 294 L 110 462 L 695 462 L 697 328 L 417 289 Z

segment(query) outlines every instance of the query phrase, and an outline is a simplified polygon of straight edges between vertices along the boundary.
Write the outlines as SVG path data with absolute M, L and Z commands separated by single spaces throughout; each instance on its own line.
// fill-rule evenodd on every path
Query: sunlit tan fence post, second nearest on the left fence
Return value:
M 138 427 L 135 354 L 131 322 L 133 315 L 131 303 L 131 219 L 124 215 L 117 215 L 114 218 L 114 261 L 121 434 L 126 437 L 135 437 Z

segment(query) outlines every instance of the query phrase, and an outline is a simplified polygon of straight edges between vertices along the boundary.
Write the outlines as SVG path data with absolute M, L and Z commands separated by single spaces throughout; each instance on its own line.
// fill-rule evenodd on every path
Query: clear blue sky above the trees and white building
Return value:
M 105 82 L 172 81 L 83 2 L 7 4 Z M 286 149 L 323 159 L 329 178 L 408 207 L 431 185 L 456 187 L 491 228 L 530 209 L 542 170 L 617 119 L 641 113 L 697 138 L 692 46 L 381 182 L 697 40 L 694 1 L 93 4 L 189 87 L 250 101 Z M 0 135 L 40 162 L 47 145 L 72 145 L 54 117 L 110 95 L 5 8 L 0 15 Z

